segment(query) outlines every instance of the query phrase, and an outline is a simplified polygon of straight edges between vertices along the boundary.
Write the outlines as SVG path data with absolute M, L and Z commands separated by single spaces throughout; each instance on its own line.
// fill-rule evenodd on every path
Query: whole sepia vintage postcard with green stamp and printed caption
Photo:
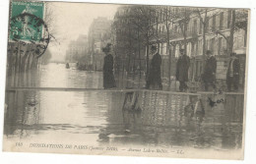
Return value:
M 11 0 L 3 151 L 242 160 L 250 10 Z

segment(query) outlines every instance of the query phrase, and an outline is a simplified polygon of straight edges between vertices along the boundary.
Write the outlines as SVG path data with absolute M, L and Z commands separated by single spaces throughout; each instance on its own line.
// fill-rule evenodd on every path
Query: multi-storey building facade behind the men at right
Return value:
M 180 55 L 179 49 L 184 48 L 191 58 L 190 81 L 200 80 L 205 59 L 204 53 L 207 50 L 211 50 L 217 57 L 217 79 L 225 80 L 230 52 L 238 54 L 241 63 L 241 80 L 244 79 L 247 26 L 236 25 L 240 22 L 247 23 L 247 11 L 180 7 L 154 8 L 156 8 L 158 17 L 151 20 L 151 24 L 156 30 L 154 32 L 158 39 L 153 38 L 151 42 L 158 45 L 163 59 L 162 78 L 168 75 L 169 67 L 165 66 L 169 64 L 169 57 L 171 57 L 171 76 L 174 76 L 175 61 Z M 166 37 L 167 34 L 168 37 Z

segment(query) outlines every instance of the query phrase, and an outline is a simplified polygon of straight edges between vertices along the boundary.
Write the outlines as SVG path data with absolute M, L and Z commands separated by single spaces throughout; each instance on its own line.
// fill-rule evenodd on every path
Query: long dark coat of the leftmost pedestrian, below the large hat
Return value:
M 113 57 L 108 54 L 104 57 L 103 65 L 103 87 L 112 88 L 115 87 L 115 80 L 113 75 Z

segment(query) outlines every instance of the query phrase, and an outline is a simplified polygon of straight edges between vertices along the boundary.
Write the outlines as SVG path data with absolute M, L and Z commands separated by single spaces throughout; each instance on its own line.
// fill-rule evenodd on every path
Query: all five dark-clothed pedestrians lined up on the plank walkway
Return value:
M 104 65 L 103 65 L 103 87 L 112 88 L 116 87 L 116 83 L 113 75 L 113 56 L 110 52 L 110 45 L 107 44 L 102 51 L 105 53 Z M 153 54 L 152 60 L 150 62 L 149 74 L 146 77 L 146 88 L 147 89 L 162 89 L 161 84 L 161 74 L 160 74 L 160 65 L 161 65 L 161 56 L 158 52 L 156 45 L 151 47 L 151 52 Z M 190 67 L 190 58 L 186 55 L 184 49 L 180 49 L 180 56 L 176 63 L 176 81 L 179 82 L 179 91 L 186 91 L 188 86 L 188 72 Z M 240 64 L 239 60 L 236 57 L 235 53 L 230 54 L 230 60 L 227 66 L 226 72 L 226 86 L 227 91 L 231 91 L 233 88 L 234 91 L 238 90 L 239 83 L 239 70 Z M 216 89 L 216 72 L 217 72 L 217 60 L 213 55 L 211 50 L 206 52 L 206 61 L 201 76 L 201 82 L 204 83 L 205 90 L 209 90 L 209 86 L 212 85 Z

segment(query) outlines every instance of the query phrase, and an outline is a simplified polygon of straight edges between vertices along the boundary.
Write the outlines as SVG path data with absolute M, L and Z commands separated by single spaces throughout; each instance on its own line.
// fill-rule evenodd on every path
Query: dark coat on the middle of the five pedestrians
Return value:
M 179 82 L 188 82 L 188 69 L 190 66 L 190 59 L 183 55 L 178 58 L 176 65 L 176 80 Z

